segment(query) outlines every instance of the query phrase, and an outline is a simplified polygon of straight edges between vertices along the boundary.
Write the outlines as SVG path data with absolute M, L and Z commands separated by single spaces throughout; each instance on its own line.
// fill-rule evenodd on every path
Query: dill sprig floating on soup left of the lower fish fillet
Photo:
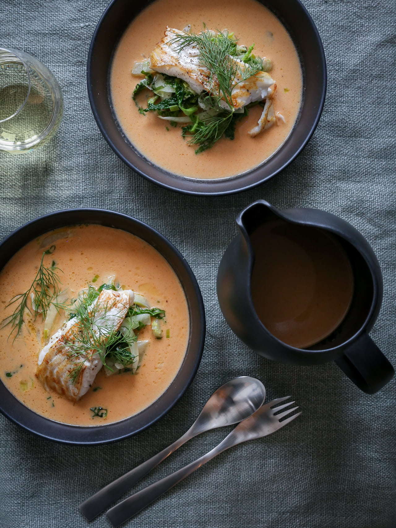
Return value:
M 27 300 L 31 294 L 33 294 L 32 309 L 34 320 L 36 320 L 37 315 L 39 314 L 41 314 L 43 319 L 45 319 L 51 304 L 53 304 L 57 309 L 63 308 L 63 305 L 57 303 L 56 300 L 54 300 L 60 293 L 60 278 L 56 271 L 61 270 L 55 266 L 54 260 L 52 260 L 51 266 L 47 267 L 44 265 L 44 257 L 46 255 L 52 254 L 54 250 L 55 246 L 51 246 L 49 249 L 43 251 L 39 270 L 37 271 L 30 288 L 23 294 L 15 295 L 6 306 L 6 308 L 8 308 L 8 306 L 11 306 L 19 301 L 13 314 L 2 320 L 2 327 L 7 325 L 12 326 L 10 336 L 16 331 L 14 340 L 21 332 L 21 328 L 24 323 L 25 310 L 27 309 L 29 312 L 32 312 L 32 310 L 27 306 Z

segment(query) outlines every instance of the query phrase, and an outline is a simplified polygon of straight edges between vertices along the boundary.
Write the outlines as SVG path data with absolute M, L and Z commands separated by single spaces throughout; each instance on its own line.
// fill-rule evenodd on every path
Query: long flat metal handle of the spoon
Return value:
M 173 442 L 169 447 L 166 447 L 157 453 L 157 455 L 154 455 L 152 458 L 143 462 L 143 464 L 131 469 L 128 473 L 125 473 L 125 475 L 120 476 L 113 482 L 110 482 L 110 484 L 107 484 L 107 486 L 99 489 L 98 492 L 88 497 L 79 505 L 80 512 L 88 519 L 88 521 L 91 521 L 99 515 L 99 513 L 115 502 L 121 495 L 126 493 L 138 482 L 138 480 L 143 478 L 166 457 L 176 451 L 176 449 L 182 446 L 187 440 L 193 438 L 193 436 L 194 434 L 190 428 L 182 437 Z

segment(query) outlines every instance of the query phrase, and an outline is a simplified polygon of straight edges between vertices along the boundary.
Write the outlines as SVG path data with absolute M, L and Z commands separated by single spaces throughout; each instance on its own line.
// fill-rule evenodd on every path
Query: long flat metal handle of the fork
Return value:
M 231 439 L 226 437 L 218 446 L 197 460 L 194 460 L 191 464 L 182 467 L 175 473 L 172 473 L 161 480 L 157 480 L 154 484 L 130 495 L 128 498 L 124 499 L 124 501 L 121 501 L 110 508 L 110 510 L 106 512 L 106 516 L 111 524 L 113 526 L 119 526 L 120 524 L 125 523 L 130 517 L 136 515 L 140 510 L 143 510 L 143 508 L 167 492 L 168 489 L 171 489 L 177 483 L 181 482 L 181 480 L 188 477 L 188 475 L 191 475 L 196 469 L 206 464 L 206 462 L 209 462 L 209 460 L 216 455 L 219 455 L 225 449 L 232 447 L 234 442 L 230 440 Z

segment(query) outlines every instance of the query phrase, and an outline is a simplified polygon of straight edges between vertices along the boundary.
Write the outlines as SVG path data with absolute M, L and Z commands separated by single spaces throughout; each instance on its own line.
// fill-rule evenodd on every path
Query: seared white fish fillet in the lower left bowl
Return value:
M 95 307 L 92 330 L 99 336 L 103 344 L 106 343 L 106 337 L 111 331 L 119 329 L 128 308 L 133 303 L 134 293 L 131 290 L 102 290 L 92 303 L 90 306 L 91 314 Z M 48 344 L 39 354 L 39 366 L 37 366 L 36 371 L 37 378 L 46 390 L 52 389 L 71 401 L 78 401 L 88 391 L 103 365 L 98 353 L 93 355 L 81 354 L 78 359 L 70 357 L 73 352 L 70 344 L 78 343 L 76 336 L 80 324 L 79 319 L 73 317 L 50 338 Z M 98 327 L 101 329 L 100 333 Z M 103 327 L 105 327 L 105 331 L 103 331 Z M 76 383 L 72 383 L 70 374 L 76 366 L 76 361 L 83 360 L 85 361 Z

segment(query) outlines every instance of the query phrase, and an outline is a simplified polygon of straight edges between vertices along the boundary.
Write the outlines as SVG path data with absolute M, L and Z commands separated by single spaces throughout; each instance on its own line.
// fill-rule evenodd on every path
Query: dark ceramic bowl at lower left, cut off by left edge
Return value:
M 190 312 L 190 337 L 184 361 L 168 389 L 143 411 L 103 426 L 72 426 L 44 418 L 28 409 L 0 381 L 0 411 L 21 427 L 36 435 L 66 444 L 106 444 L 143 431 L 164 416 L 192 382 L 201 361 L 205 341 L 205 314 L 201 292 L 190 266 L 165 237 L 130 216 L 102 209 L 70 209 L 47 214 L 11 233 L 0 244 L 0 269 L 27 242 L 41 234 L 81 223 L 101 224 L 122 229 L 142 238 L 169 262 L 180 280 Z M 12 346 L 10 344 L 10 346 Z

